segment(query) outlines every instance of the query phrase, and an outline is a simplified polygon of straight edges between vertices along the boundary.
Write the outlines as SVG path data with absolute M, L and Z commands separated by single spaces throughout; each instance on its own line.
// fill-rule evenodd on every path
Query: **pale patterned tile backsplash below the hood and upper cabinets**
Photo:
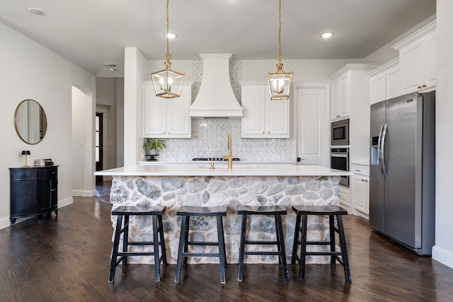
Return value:
M 241 119 L 194 118 L 192 138 L 165 139 L 159 161 L 192 161 L 195 157 L 222 157 L 228 154 L 231 132 L 233 156 L 241 161 L 287 161 L 286 139 L 242 139 Z M 143 141 L 139 140 L 138 161 L 144 161 Z

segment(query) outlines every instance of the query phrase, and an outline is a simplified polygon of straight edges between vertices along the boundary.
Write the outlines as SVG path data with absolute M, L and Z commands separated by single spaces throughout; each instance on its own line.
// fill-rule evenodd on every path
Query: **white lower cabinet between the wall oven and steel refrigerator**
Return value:
M 369 166 L 352 164 L 352 203 L 354 205 L 353 214 L 363 216 L 368 219 L 369 214 Z

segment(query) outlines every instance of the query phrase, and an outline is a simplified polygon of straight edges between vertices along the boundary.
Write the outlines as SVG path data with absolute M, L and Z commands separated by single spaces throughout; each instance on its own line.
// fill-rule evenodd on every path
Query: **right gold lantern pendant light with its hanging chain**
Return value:
M 282 70 L 282 43 L 280 35 L 282 33 L 282 0 L 278 1 L 278 63 L 277 72 L 268 73 L 268 84 L 271 100 L 287 100 L 291 91 L 292 72 Z

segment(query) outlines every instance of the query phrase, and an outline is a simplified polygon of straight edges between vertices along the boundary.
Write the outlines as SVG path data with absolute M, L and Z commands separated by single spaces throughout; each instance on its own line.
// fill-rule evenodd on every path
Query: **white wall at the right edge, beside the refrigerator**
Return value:
M 436 238 L 432 258 L 453 268 L 453 1 L 437 0 Z

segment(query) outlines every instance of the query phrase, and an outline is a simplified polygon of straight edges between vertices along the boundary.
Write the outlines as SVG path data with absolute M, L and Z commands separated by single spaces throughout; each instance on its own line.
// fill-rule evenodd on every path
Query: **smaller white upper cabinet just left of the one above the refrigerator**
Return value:
M 393 59 L 367 74 L 369 77 L 370 105 L 401 95 L 398 62 L 398 58 Z

